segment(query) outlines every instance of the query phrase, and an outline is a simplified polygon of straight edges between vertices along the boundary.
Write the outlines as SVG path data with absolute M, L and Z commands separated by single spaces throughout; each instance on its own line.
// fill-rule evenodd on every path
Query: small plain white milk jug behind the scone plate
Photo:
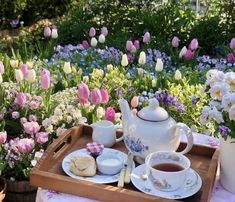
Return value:
M 123 140 L 123 136 L 117 138 L 117 129 L 122 126 L 114 125 L 111 121 L 102 120 L 90 125 L 93 128 L 92 140 L 103 144 L 105 147 L 112 147 L 115 143 Z

